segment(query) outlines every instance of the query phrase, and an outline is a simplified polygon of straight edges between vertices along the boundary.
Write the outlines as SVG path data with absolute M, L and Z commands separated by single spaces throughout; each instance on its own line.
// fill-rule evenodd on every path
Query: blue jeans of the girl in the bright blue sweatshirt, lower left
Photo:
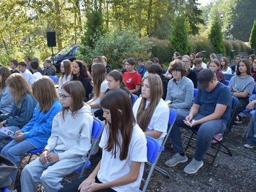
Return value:
M 27 140 L 23 140 L 22 142 L 16 142 L 15 140 L 12 140 L 3 148 L 3 150 L 1 151 L 1 155 L 7 157 L 12 162 L 14 162 L 17 167 L 19 167 L 23 155 L 26 152 L 35 149 L 37 148 Z M 12 184 L 15 183 L 17 173 L 18 168 L 10 175 Z

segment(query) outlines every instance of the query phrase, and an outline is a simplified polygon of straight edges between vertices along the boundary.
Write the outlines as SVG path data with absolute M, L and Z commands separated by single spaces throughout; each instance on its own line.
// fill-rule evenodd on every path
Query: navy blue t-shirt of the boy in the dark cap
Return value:
M 199 113 L 203 116 L 208 116 L 214 113 L 217 103 L 227 105 L 228 107 L 220 119 L 223 119 L 226 123 L 229 122 L 232 96 L 229 87 L 226 85 L 218 82 L 217 86 L 211 92 L 199 89 L 194 103 L 200 105 Z

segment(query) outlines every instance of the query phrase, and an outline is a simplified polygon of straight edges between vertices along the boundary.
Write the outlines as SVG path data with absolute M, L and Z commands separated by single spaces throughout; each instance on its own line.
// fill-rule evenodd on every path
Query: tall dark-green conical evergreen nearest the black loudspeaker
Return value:
M 93 0 L 91 11 L 87 13 L 87 21 L 84 28 L 86 31 L 82 37 L 82 44 L 93 48 L 95 35 L 104 33 L 101 0 Z M 81 50 L 81 53 L 83 54 L 84 50 Z

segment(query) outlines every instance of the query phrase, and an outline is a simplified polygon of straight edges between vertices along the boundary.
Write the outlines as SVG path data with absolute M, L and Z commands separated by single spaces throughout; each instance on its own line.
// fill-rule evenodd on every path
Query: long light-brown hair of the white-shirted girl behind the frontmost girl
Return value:
M 146 98 L 142 98 L 139 104 L 137 117 L 136 117 L 137 123 L 143 132 L 146 131 L 146 128 L 150 123 L 151 117 L 154 114 L 155 108 L 158 105 L 159 101 L 161 100 L 161 97 L 163 94 L 163 84 L 159 75 L 148 75 L 143 79 L 142 83 L 146 79 L 148 80 L 148 83 L 149 83 L 150 102 L 147 108 L 145 109 Z

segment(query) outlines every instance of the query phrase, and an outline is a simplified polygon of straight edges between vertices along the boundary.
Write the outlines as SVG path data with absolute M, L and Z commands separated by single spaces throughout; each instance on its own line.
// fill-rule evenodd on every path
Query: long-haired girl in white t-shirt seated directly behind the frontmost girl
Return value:
M 133 105 L 133 114 L 143 132 L 158 140 L 161 145 L 167 132 L 169 119 L 168 104 L 161 98 L 163 85 L 159 75 L 143 79 L 142 97 Z

